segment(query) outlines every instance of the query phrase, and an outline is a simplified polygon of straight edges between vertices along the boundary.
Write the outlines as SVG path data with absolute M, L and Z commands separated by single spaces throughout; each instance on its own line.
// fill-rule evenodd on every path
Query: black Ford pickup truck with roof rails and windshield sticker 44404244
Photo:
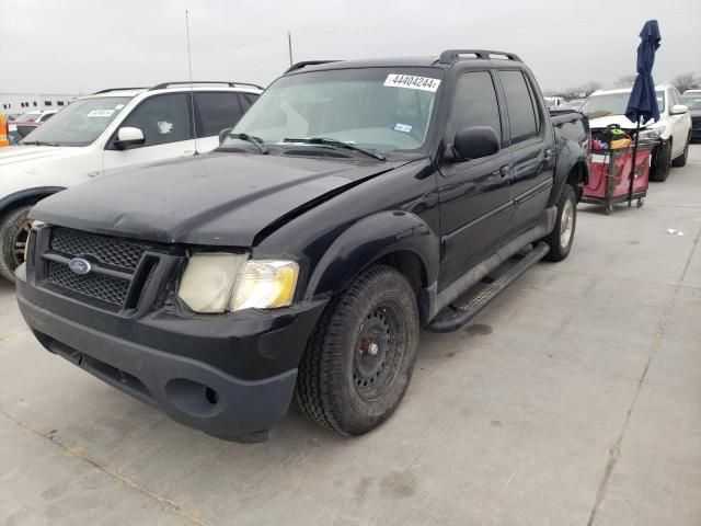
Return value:
M 215 152 L 42 201 L 19 305 L 48 351 L 206 433 L 265 439 L 296 395 L 363 434 L 421 328 L 567 256 L 588 142 L 509 53 L 300 62 Z

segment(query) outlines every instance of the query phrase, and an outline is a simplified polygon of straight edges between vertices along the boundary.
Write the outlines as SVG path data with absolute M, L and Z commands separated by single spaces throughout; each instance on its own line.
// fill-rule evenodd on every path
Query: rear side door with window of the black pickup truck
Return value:
M 550 115 L 536 85 L 520 69 L 498 71 L 508 115 L 510 185 L 515 233 L 532 227 L 545 209 L 553 184 L 554 140 Z

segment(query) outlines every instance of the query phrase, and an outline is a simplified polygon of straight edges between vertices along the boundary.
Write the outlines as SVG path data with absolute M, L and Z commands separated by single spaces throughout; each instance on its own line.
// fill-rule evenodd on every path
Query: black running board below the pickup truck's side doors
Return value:
M 518 276 L 542 260 L 549 251 L 550 247 L 541 241 L 533 250 L 521 258 L 516 265 L 509 268 L 506 274 L 478 291 L 467 304 L 460 306 L 449 305 L 446 307 L 432 320 L 427 329 L 430 332 L 451 332 L 460 329 L 474 318 L 486 304 L 496 298 L 502 290 L 514 283 Z

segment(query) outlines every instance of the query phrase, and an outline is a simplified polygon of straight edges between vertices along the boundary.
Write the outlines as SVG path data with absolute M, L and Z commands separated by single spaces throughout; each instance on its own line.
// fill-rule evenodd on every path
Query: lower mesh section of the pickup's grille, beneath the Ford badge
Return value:
M 127 299 L 129 282 L 104 274 L 79 275 L 68 266 L 54 261 L 48 263 L 48 281 L 74 293 L 101 299 L 122 307 Z

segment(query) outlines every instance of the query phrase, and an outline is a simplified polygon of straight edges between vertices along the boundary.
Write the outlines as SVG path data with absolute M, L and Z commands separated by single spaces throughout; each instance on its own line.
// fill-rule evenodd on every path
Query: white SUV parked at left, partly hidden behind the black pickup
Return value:
M 0 275 L 12 281 L 23 261 L 27 213 L 36 202 L 110 170 L 210 151 L 262 92 L 240 82 L 104 90 L 2 148 Z

